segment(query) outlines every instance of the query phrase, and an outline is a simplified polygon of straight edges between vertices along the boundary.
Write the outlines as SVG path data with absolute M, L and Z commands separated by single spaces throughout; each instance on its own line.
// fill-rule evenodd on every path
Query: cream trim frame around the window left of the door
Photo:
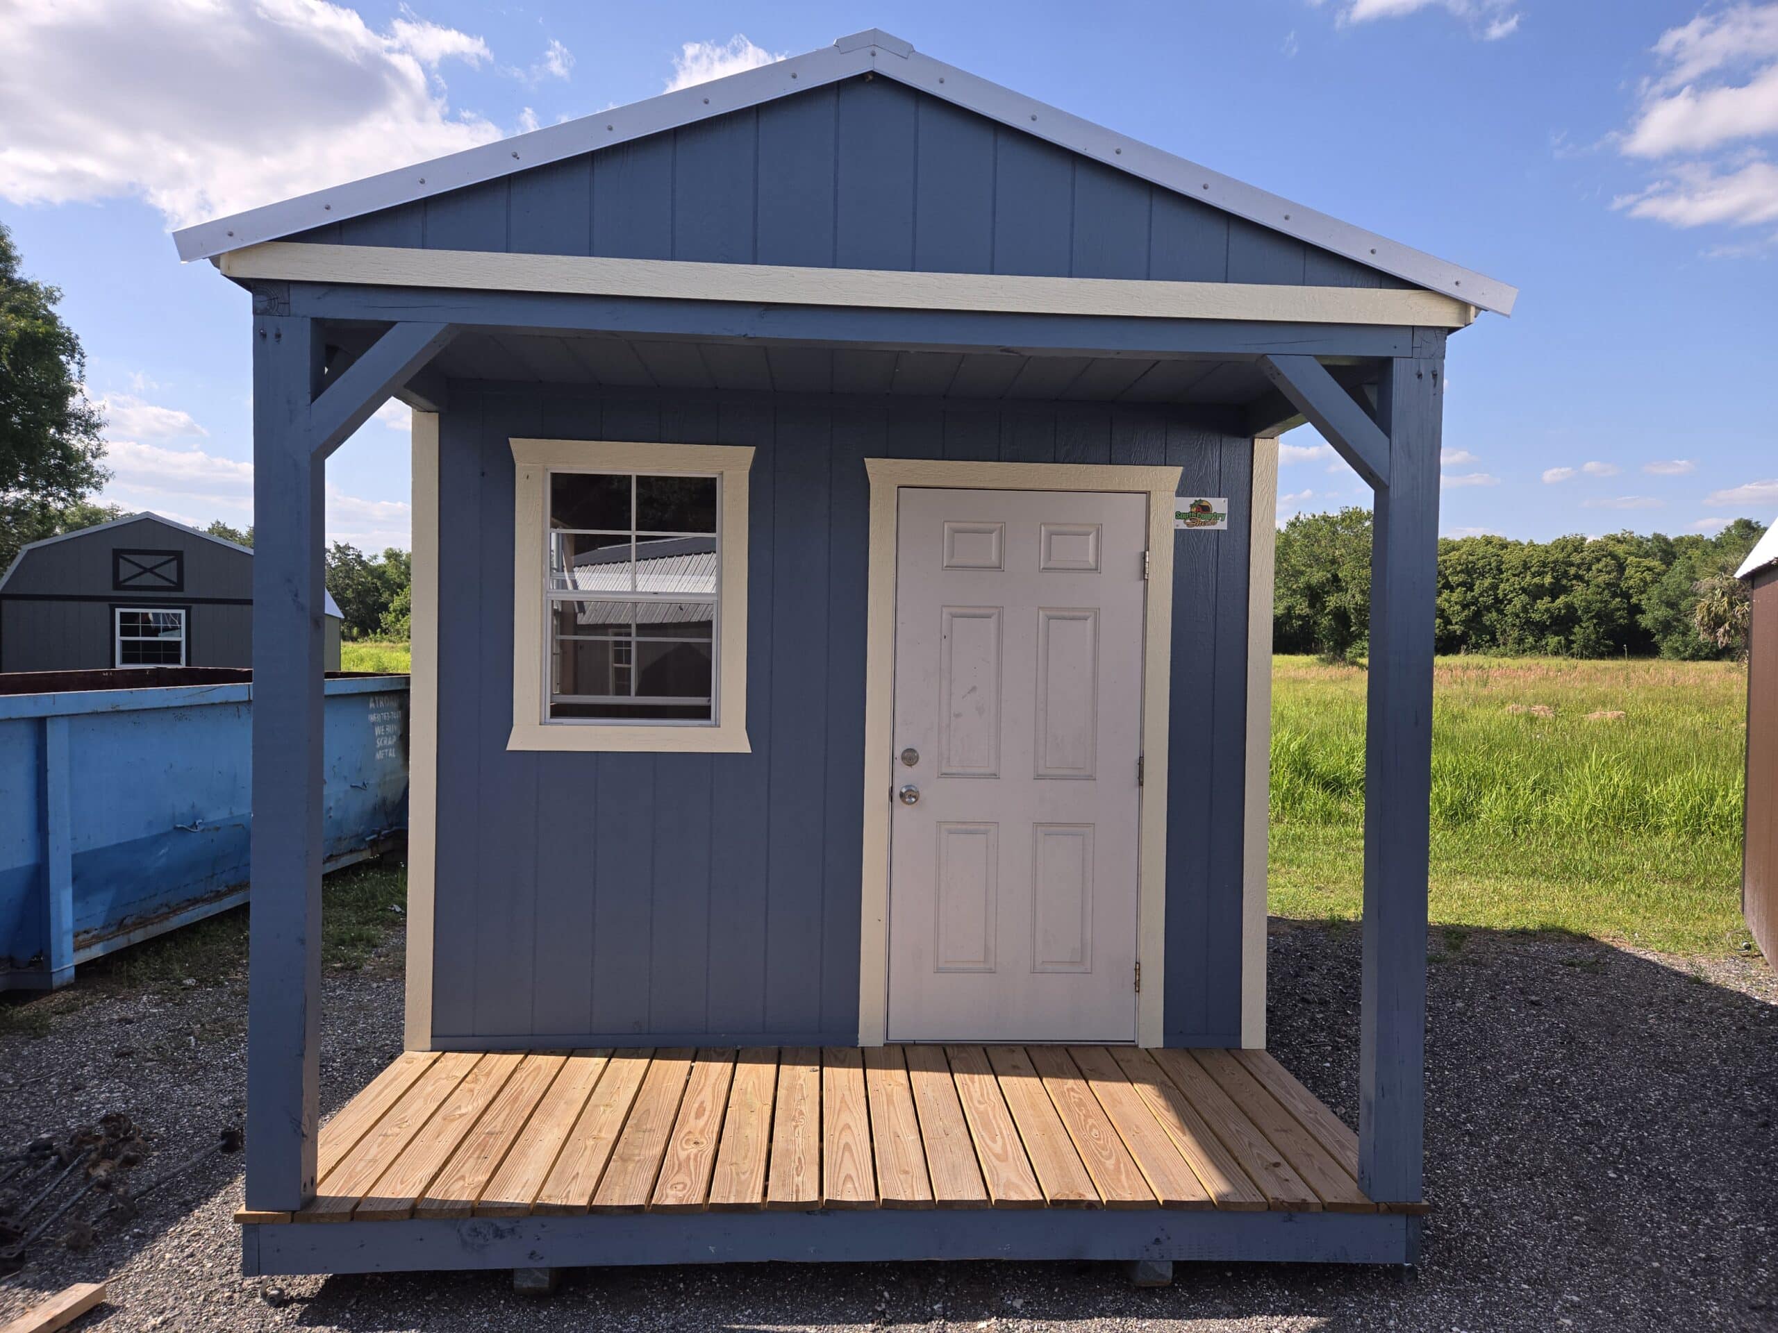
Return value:
M 512 439 L 512 734 L 509 750 L 747 754 L 747 476 L 754 451 L 727 444 Z M 544 576 L 553 467 L 722 478 L 717 583 L 717 723 L 544 722 Z

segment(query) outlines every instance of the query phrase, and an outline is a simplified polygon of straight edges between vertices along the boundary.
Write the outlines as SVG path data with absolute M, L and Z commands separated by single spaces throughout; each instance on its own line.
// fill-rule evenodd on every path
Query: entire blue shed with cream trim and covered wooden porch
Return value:
M 1511 288 L 877 30 L 178 245 L 252 291 L 249 1271 L 1414 1260 L 1444 350 Z M 389 395 L 407 1054 L 322 1127 Z M 1303 419 L 1376 491 L 1357 1134 L 1264 1050 Z

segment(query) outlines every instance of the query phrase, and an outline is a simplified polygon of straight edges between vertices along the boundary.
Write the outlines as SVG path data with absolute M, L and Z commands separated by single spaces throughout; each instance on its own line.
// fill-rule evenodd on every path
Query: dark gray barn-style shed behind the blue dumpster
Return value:
M 336 672 L 340 608 L 322 604 Z M 251 546 L 142 512 L 30 542 L 0 576 L 0 672 L 251 665 Z

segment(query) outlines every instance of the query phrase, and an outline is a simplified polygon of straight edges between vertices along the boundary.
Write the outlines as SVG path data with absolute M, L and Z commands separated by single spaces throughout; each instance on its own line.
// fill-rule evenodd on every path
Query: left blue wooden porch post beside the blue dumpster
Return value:
M 252 914 L 247 1209 L 315 1193 L 320 1113 L 322 521 L 311 320 L 252 320 Z

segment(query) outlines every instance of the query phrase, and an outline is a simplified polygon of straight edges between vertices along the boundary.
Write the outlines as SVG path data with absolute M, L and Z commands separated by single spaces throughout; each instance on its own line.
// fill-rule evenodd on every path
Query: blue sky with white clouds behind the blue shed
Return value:
M 0 222 L 62 288 L 103 499 L 252 519 L 247 293 L 169 231 L 880 27 L 1520 288 L 1453 336 L 1442 530 L 1778 515 L 1778 4 L 0 4 Z M 1310 428 L 1278 519 L 1367 503 Z M 407 546 L 407 411 L 327 466 Z

